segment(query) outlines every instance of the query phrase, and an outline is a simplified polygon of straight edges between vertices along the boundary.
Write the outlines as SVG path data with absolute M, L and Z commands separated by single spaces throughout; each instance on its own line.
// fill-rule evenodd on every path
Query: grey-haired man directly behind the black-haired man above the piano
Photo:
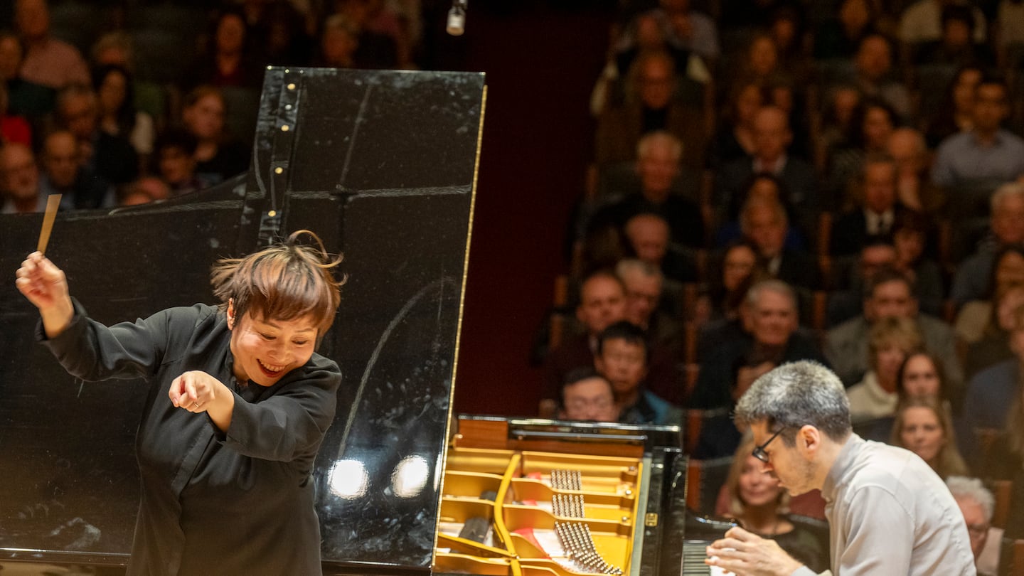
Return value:
M 634 258 L 621 260 L 615 276 L 626 288 L 626 320 L 647 336 L 647 386 L 670 402 L 681 403 L 676 366 L 683 351 L 683 327 L 660 306 L 665 278 L 656 268 Z

